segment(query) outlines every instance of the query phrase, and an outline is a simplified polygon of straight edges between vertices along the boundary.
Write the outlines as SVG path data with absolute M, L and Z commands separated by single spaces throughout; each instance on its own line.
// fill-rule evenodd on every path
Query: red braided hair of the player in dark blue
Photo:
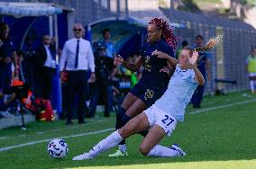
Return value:
M 149 24 L 155 24 L 157 29 L 162 31 L 162 38 L 166 40 L 170 47 L 176 49 L 178 37 L 173 34 L 173 31 L 170 29 L 167 21 L 164 21 L 161 18 L 154 18 L 149 22 Z

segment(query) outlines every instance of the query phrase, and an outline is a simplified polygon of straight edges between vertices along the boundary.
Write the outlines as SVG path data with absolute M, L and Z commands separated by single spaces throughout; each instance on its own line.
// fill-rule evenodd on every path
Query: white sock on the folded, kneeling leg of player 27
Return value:
M 177 156 L 177 151 L 169 147 L 157 145 L 151 149 L 147 156 Z

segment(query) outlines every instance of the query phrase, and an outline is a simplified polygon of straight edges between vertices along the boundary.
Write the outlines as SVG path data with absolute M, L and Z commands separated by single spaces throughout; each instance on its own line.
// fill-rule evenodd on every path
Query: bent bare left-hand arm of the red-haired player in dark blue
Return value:
M 123 65 L 123 67 L 127 68 L 128 70 L 131 70 L 133 72 L 136 72 L 140 69 L 140 67 L 142 66 L 142 56 L 136 58 L 135 62 L 133 63 L 128 63 L 125 60 L 123 60 L 123 58 L 118 55 L 117 57 L 114 58 L 114 65 Z

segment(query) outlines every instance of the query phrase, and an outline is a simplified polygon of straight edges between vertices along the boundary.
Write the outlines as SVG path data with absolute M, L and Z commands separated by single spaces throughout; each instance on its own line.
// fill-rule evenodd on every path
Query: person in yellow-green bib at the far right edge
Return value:
M 247 71 L 249 74 L 251 93 L 256 92 L 256 48 L 251 49 L 251 54 L 246 60 Z

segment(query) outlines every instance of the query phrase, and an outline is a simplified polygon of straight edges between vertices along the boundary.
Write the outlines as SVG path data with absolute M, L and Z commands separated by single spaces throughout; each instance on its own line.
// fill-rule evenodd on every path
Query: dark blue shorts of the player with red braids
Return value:
M 150 82 L 139 82 L 133 86 L 131 93 L 145 102 L 148 107 L 151 107 L 151 105 L 155 103 L 166 90 L 167 85 L 164 86 L 151 84 Z

